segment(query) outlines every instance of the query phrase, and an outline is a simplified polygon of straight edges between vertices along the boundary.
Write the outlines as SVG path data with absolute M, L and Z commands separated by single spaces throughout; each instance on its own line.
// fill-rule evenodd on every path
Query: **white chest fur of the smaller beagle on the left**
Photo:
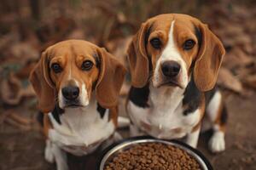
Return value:
M 49 139 L 74 155 L 86 155 L 108 139 L 114 132 L 109 111 L 103 117 L 96 111 L 96 101 L 86 108 L 67 108 L 60 116 L 61 124 L 49 113 L 54 129 L 49 130 Z

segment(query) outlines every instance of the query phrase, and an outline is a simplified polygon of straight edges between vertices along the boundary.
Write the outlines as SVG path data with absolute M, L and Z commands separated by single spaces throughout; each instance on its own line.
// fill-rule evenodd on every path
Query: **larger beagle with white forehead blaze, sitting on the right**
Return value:
M 131 136 L 186 137 L 196 147 L 208 121 L 214 131 L 210 150 L 224 150 L 227 112 L 215 87 L 224 54 L 218 37 L 189 15 L 161 14 L 144 22 L 127 54 Z

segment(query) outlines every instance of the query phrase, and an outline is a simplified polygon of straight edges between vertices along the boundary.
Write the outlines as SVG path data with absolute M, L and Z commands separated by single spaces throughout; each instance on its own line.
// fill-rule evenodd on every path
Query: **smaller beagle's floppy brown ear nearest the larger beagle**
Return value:
M 118 105 L 119 91 L 125 78 L 125 67 L 105 48 L 99 48 L 100 74 L 96 82 L 96 99 L 102 107 Z

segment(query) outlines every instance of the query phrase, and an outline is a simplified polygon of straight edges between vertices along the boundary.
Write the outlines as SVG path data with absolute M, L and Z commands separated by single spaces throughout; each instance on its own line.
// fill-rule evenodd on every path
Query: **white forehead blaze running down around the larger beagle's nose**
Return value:
M 156 63 L 156 67 L 154 70 L 154 80 L 153 84 L 157 85 L 159 82 L 160 77 L 160 69 L 161 64 L 167 60 L 169 61 L 176 61 L 179 65 L 181 65 L 181 72 L 180 72 L 180 85 L 185 88 L 188 84 L 188 73 L 186 68 L 186 63 L 184 62 L 181 54 L 178 51 L 177 44 L 174 40 L 174 24 L 175 20 L 172 20 L 170 31 L 168 34 L 168 42 L 166 43 L 166 48 L 164 48 L 160 59 L 158 59 Z

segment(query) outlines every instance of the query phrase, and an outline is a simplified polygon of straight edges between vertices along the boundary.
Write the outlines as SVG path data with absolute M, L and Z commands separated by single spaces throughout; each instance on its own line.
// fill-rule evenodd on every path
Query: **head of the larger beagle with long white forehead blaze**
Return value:
M 193 75 L 201 91 L 214 87 L 224 47 L 207 25 L 185 14 L 161 14 L 144 22 L 128 48 L 131 83 L 142 88 L 186 88 Z

